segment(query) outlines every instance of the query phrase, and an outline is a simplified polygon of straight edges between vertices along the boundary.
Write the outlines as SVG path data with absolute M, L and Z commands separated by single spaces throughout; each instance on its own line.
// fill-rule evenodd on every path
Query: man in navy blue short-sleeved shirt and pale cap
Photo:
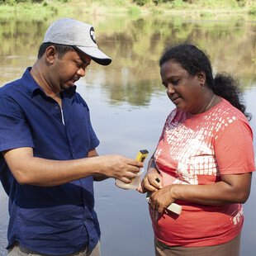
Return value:
M 69 18 L 46 31 L 38 59 L 0 88 L 0 178 L 9 196 L 8 255 L 100 255 L 93 179 L 130 183 L 142 164 L 97 156 L 99 140 L 75 82 L 108 65 L 93 27 Z

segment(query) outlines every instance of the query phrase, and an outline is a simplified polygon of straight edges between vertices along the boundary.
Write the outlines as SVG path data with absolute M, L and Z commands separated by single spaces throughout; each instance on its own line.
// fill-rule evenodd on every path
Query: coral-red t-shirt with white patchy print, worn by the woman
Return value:
M 165 122 L 154 159 L 164 186 L 217 183 L 220 174 L 255 170 L 253 132 L 244 114 L 225 99 L 198 115 L 175 109 Z M 176 202 L 183 206 L 179 216 L 168 211 L 154 219 L 149 210 L 154 235 L 164 244 L 223 244 L 242 229 L 244 216 L 239 203 L 207 206 Z

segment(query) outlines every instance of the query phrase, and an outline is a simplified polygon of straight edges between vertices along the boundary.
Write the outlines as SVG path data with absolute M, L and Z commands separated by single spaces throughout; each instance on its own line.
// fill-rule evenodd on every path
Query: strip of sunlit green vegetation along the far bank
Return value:
M 68 7 L 68 8 L 67 8 Z M 256 15 L 255 0 L 0 0 L 0 13 L 30 12 L 93 14 L 126 13 L 131 16 L 144 13 L 193 12 L 202 16 L 210 13 L 243 12 Z M 38 13 L 36 14 L 38 15 Z

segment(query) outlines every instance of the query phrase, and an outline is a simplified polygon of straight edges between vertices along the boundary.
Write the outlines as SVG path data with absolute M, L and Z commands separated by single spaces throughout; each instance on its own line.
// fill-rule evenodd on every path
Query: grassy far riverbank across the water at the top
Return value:
M 0 1 L 1 2 L 1 1 Z M 8 1 L 7 1 L 8 2 Z M 181 0 L 165 2 L 155 5 L 147 0 L 146 4 L 138 5 L 135 0 L 47 0 L 42 2 L 19 2 L 11 1 L 9 4 L 0 4 L 0 14 L 2 17 L 8 14 L 24 15 L 27 13 L 32 17 L 43 17 L 49 14 L 59 14 L 61 16 L 80 17 L 82 15 L 110 16 L 113 14 L 140 16 L 147 14 L 163 15 L 196 15 L 201 17 L 216 17 L 216 15 L 249 14 L 256 16 L 256 3 L 247 1 L 244 6 L 234 4 L 235 1 L 194 1 L 194 3 L 183 2 Z M 195 3 L 197 2 L 197 3 Z M 246 2 L 246 1 L 245 1 Z

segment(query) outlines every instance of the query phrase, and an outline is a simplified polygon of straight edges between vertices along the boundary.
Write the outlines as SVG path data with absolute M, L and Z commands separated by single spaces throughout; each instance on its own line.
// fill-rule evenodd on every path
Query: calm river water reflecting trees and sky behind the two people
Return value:
M 0 84 L 19 78 L 36 59 L 49 24 L 57 17 L 0 17 Z M 88 102 L 92 125 L 101 140 L 99 154 L 135 158 L 149 154 L 173 109 L 160 83 L 158 60 L 164 47 L 190 40 L 211 56 L 215 72 L 226 71 L 244 84 L 244 102 L 256 132 L 256 22 L 251 17 L 84 17 L 96 31 L 98 45 L 113 62 L 92 63 L 78 92 Z M 29 29 L 27 29 L 29 27 Z M 0 86 L 1 86 L 0 85 Z M 255 141 L 254 141 L 254 149 Z M 148 159 L 145 161 L 145 165 Z M 241 256 L 256 249 L 256 180 L 244 204 Z M 115 181 L 95 183 L 96 211 L 102 229 L 102 256 L 153 256 L 153 231 L 145 195 L 122 190 Z M 7 196 L 0 185 L 0 255 L 6 255 Z

